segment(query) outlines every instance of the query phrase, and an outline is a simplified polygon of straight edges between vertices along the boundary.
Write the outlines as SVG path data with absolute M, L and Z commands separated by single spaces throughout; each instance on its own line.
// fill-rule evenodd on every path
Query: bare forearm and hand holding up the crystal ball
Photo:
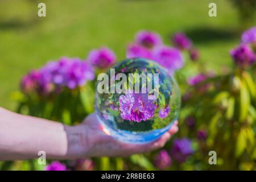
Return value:
M 178 130 L 177 122 L 151 143 L 121 142 L 108 135 L 95 113 L 77 126 L 13 113 L 0 107 L 0 160 L 38 158 L 77 159 L 93 156 L 129 156 L 163 147 Z

